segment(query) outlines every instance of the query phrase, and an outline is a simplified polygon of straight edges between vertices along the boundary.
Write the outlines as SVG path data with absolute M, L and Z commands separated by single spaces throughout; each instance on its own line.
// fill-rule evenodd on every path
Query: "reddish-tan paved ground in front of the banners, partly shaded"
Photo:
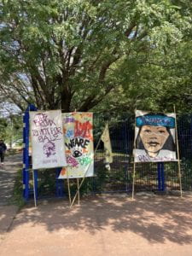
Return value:
M 38 201 L 15 215 L 0 255 L 192 255 L 192 195 Z M 1 231 L 0 231 L 1 232 Z

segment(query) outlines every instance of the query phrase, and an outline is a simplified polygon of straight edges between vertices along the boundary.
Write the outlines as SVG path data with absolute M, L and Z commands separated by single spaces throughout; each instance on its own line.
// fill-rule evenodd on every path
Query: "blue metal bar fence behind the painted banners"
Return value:
M 82 193 L 113 193 L 130 192 L 133 172 L 132 148 L 134 141 L 134 115 L 127 113 L 108 115 L 94 114 L 95 146 L 108 120 L 111 143 L 113 148 L 113 163 L 110 171 L 104 165 L 103 144 L 100 144 L 95 155 L 95 177 L 87 178 L 82 187 Z M 28 129 L 26 127 L 26 129 Z M 192 116 L 182 115 L 177 118 L 177 135 L 181 157 L 183 189 L 192 189 Z M 23 154 L 26 159 L 26 154 Z M 26 159 L 27 167 L 27 159 Z M 27 168 L 26 168 L 27 170 Z M 32 184 L 29 184 L 29 174 L 23 171 L 24 196 L 27 199 Z M 140 163 L 136 168 L 136 191 L 141 190 L 178 190 L 177 162 Z M 46 173 L 46 175 L 45 175 Z M 67 195 L 67 181 L 57 179 L 59 170 L 44 170 L 37 173 L 37 195 Z M 32 178 L 32 177 L 31 177 Z M 26 182 L 26 180 L 28 181 Z M 55 182 L 54 182 L 55 181 Z M 29 185 L 26 186 L 26 183 Z M 76 180 L 71 180 L 72 194 L 77 189 Z M 27 190 L 28 189 L 28 190 Z M 27 195 L 28 191 L 28 195 Z M 27 196 L 26 196 L 27 195 Z

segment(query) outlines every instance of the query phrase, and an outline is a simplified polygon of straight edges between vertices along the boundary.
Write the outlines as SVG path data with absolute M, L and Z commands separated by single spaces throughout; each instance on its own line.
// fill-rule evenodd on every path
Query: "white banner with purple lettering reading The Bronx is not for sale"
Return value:
M 67 166 L 61 110 L 30 112 L 32 169 Z

